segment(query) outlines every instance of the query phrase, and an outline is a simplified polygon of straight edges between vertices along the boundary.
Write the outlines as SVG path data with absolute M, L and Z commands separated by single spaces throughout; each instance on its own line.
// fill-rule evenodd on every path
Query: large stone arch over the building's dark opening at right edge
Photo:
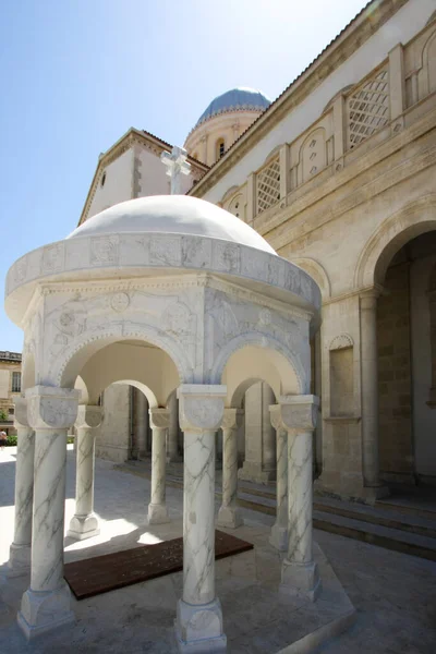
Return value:
M 365 244 L 354 272 L 356 289 L 383 283 L 393 255 L 405 243 L 436 230 L 436 194 L 428 194 L 403 207 L 378 227 Z

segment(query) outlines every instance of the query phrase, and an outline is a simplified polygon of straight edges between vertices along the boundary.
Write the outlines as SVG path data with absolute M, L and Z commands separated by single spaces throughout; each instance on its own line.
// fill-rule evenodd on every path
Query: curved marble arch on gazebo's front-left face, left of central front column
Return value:
M 165 352 L 173 362 L 180 383 L 189 383 L 193 377 L 183 349 L 170 337 L 157 329 L 144 325 L 110 325 L 102 329 L 93 329 L 75 338 L 57 358 L 49 373 L 48 382 L 55 386 L 71 388 L 86 362 L 107 346 L 120 341 L 138 340 Z

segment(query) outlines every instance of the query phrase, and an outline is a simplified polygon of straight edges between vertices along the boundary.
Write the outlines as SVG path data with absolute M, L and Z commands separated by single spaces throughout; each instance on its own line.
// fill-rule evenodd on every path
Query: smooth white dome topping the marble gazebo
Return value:
M 152 195 L 122 202 L 93 216 L 66 238 L 128 232 L 207 237 L 276 254 L 265 239 L 229 211 L 185 195 Z

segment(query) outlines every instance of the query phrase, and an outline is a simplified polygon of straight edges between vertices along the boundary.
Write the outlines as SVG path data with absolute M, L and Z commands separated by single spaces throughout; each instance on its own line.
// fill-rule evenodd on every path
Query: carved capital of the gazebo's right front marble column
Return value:
M 306 396 L 280 396 L 279 403 L 269 408 L 275 429 L 287 432 L 313 432 L 316 426 L 319 398 Z

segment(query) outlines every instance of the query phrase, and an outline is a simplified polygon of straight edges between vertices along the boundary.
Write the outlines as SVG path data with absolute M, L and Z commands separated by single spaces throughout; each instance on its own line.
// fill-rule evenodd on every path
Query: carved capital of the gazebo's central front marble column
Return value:
M 182 384 L 178 388 L 180 426 L 184 432 L 216 431 L 221 425 L 227 386 Z

